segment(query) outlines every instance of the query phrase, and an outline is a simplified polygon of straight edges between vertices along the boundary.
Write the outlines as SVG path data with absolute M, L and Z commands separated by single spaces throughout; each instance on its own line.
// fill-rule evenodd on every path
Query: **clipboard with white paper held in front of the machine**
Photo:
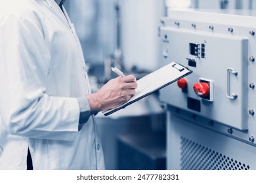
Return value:
M 102 111 L 102 114 L 108 116 L 121 108 L 125 108 L 136 101 L 176 82 L 177 80 L 183 78 L 184 76 L 190 75 L 192 71 L 187 67 L 177 63 L 171 62 L 160 69 L 140 78 L 137 80 L 137 89 L 135 91 L 135 95 L 129 99 L 126 103 L 119 105 L 116 108 L 112 108 L 110 110 Z

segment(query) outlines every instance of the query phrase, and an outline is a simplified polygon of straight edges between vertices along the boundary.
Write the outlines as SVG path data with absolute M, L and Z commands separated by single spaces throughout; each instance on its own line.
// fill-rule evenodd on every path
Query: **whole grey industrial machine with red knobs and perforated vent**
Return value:
M 161 64 L 193 71 L 160 91 L 167 169 L 256 169 L 255 23 L 251 12 L 169 9 L 161 18 Z

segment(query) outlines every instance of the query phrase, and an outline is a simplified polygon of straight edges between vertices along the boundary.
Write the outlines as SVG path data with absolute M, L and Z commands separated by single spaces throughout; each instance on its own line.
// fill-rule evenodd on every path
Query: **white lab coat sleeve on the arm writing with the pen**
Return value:
M 34 19 L 32 21 L 32 19 Z M 34 18 L 5 16 L 0 21 L 0 114 L 12 135 L 73 141 L 79 104 L 72 97 L 47 95 L 51 54 Z

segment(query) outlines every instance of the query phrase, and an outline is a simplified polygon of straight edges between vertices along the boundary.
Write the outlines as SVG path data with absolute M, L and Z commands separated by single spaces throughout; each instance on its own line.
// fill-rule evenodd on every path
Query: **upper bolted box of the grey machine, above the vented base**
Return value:
M 244 22 L 246 16 L 185 10 L 162 18 L 161 64 L 177 61 L 193 73 L 163 88 L 160 99 L 192 122 L 255 144 L 256 27 Z

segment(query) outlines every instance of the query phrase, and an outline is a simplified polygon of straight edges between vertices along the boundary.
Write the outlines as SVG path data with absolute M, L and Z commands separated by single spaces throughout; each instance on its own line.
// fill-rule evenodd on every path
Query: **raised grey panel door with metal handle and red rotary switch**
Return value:
M 161 90 L 161 101 L 247 129 L 248 40 L 175 27 L 163 27 L 161 40 L 163 64 L 177 61 L 193 71 L 185 89 L 171 84 Z

